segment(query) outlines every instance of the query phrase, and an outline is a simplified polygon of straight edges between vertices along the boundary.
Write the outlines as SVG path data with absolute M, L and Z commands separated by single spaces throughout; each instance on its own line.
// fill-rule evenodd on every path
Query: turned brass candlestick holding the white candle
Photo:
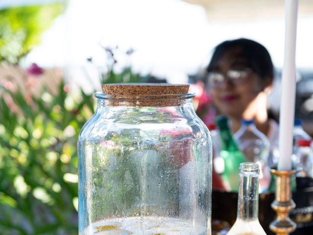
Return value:
M 289 218 L 289 212 L 295 208 L 291 194 L 291 175 L 296 170 L 271 169 L 276 175 L 276 196 L 271 207 L 277 213 L 277 218 L 270 223 L 269 229 L 277 235 L 289 235 L 296 229 L 296 224 Z

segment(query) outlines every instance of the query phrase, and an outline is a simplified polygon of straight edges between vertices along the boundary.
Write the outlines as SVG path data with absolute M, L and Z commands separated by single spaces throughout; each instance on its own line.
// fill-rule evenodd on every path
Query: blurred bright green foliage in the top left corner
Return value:
M 0 10 L 0 62 L 17 64 L 61 12 L 61 3 Z

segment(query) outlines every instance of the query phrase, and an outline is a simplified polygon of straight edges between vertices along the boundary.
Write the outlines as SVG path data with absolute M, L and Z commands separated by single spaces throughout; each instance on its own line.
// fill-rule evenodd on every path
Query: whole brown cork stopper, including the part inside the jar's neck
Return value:
M 112 83 L 103 84 L 109 106 L 179 106 L 188 94 L 189 85 L 167 83 Z M 180 96 L 181 95 L 181 96 Z

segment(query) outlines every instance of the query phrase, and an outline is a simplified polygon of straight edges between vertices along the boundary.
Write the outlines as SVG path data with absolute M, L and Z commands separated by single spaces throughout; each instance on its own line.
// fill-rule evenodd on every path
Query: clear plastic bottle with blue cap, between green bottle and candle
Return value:
M 260 192 L 268 189 L 270 173 L 268 171 L 269 141 L 266 135 L 260 132 L 253 120 L 243 119 L 241 128 L 234 134 L 241 151 L 248 162 L 258 163 L 260 166 Z

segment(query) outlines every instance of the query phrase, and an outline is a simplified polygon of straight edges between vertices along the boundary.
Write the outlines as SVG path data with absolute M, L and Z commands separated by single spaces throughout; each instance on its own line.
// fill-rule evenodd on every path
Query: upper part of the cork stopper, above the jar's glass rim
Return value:
M 167 83 L 111 83 L 103 84 L 102 92 L 112 95 L 187 94 L 189 85 Z

